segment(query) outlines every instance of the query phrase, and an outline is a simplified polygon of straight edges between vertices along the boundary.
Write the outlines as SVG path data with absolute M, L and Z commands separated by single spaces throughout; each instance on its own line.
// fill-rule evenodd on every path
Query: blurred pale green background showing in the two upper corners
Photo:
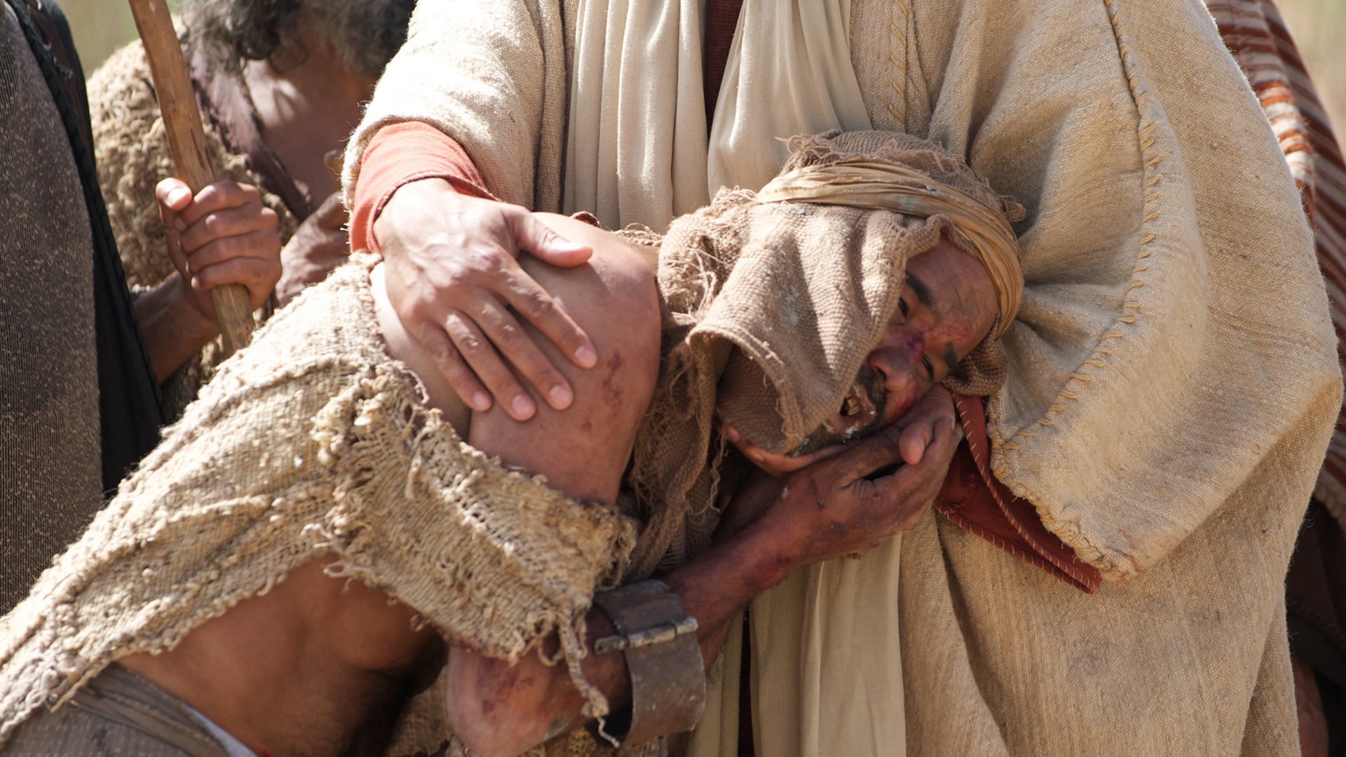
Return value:
M 70 18 L 86 73 L 136 35 L 124 0 L 58 1 Z M 1346 0 L 1280 0 L 1280 8 L 1341 135 L 1346 129 Z

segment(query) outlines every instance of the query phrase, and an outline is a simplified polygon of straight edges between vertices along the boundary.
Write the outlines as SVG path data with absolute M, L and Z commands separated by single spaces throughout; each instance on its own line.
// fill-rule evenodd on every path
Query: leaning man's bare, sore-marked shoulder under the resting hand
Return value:
M 563 216 L 541 220 L 594 248 L 590 263 L 576 268 L 556 268 L 528 256 L 522 265 L 588 333 L 598 364 L 577 368 L 525 325 L 571 383 L 575 403 L 555 411 L 537 401 L 537 415 L 525 423 L 510 420 L 498 408 L 474 414 L 470 442 L 509 465 L 546 475 L 571 496 L 612 501 L 658 374 L 660 303 L 653 260 L 587 224 Z

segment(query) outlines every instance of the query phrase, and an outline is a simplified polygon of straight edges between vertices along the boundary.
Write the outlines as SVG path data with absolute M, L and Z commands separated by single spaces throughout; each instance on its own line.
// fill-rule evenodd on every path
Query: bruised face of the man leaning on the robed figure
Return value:
M 991 331 L 996 312 L 991 276 L 948 240 L 907 261 L 898 311 L 864 358 L 837 414 L 790 455 L 860 439 L 902 418 L 958 369 Z

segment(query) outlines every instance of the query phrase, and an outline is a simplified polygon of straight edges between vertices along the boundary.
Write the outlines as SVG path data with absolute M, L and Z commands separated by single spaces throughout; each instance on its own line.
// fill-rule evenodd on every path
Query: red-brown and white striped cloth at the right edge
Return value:
M 1206 7 L 1261 101 L 1299 185 L 1341 339 L 1346 335 L 1346 163 L 1327 112 L 1272 0 L 1207 0 Z M 1337 349 L 1346 360 L 1343 343 Z M 1346 412 L 1337 418 L 1314 496 L 1346 528 Z

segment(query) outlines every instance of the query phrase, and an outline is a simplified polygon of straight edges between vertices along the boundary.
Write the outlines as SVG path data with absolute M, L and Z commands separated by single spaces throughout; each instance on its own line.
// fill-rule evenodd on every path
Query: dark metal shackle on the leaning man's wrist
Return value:
M 607 735 L 641 744 L 692 730 L 705 706 L 705 663 L 696 618 L 686 616 L 682 601 L 662 581 L 642 581 L 596 594 L 594 603 L 616 626 L 616 636 L 595 641 L 594 652 L 622 651 L 631 679 L 630 726 Z

